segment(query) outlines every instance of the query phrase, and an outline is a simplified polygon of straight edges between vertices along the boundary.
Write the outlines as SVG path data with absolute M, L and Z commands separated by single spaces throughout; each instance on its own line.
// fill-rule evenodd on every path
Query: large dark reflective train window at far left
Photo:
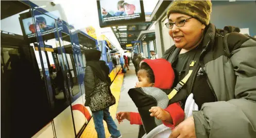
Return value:
M 20 1 L 1 1 L 3 137 L 31 137 L 52 120 L 37 43 L 23 34 L 20 20 L 22 13 L 31 16 L 29 9 Z

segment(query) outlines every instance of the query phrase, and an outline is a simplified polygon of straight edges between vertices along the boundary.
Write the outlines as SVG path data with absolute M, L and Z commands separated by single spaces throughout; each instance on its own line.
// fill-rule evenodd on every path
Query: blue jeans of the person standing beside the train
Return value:
M 117 130 L 115 122 L 110 116 L 109 107 L 103 110 L 92 112 L 92 116 L 98 138 L 106 138 L 103 120 L 106 121 L 109 133 L 112 137 L 118 137 L 121 135 L 120 131 Z

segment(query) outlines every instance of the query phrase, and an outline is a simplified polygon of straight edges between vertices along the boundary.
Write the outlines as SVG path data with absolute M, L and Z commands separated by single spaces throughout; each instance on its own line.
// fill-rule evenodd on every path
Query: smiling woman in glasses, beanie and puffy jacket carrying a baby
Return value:
M 211 10 L 211 1 L 175 1 L 167 10 L 175 45 L 162 58 L 179 72 L 179 81 L 189 78 L 176 86 L 170 104 L 184 104 L 193 93 L 200 110 L 169 137 L 255 137 L 256 42 L 232 27 L 215 29 Z

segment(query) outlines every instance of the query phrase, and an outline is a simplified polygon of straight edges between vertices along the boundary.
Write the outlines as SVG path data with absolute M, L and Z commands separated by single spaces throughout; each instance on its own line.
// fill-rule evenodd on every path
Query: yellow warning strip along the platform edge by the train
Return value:
M 111 92 L 115 96 L 115 100 L 116 100 L 116 104 L 109 108 L 110 115 L 113 117 L 113 119 L 115 119 L 115 114 L 116 114 L 117 105 L 120 98 L 123 80 L 124 80 L 124 73 L 122 73 L 122 69 L 121 69 L 120 72 L 118 72 L 117 76 L 115 77 L 114 82 L 110 86 Z M 104 121 L 104 128 L 105 128 L 106 137 L 109 137 L 110 133 L 108 131 L 108 127 L 105 121 Z M 90 120 L 90 122 L 86 126 L 86 129 L 84 129 L 80 138 L 97 138 L 97 132 L 94 128 L 93 119 Z

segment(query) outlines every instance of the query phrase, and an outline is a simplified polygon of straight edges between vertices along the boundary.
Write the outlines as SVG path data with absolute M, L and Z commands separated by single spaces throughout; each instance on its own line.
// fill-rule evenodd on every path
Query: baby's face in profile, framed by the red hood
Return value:
M 138 80 L 139 82 L 136 83 L 136 86 L 135 86 L 136 88 L 153 86 L 153 84 L 149 82 L 147 71 L 144 69 L 138 71 Z

